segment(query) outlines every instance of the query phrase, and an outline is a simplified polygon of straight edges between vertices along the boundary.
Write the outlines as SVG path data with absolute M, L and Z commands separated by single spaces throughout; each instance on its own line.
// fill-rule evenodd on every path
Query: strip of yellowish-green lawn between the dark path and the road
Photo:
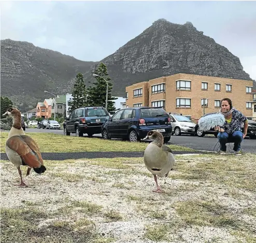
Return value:
M 26 133 L 34 139 L 41 152 L 64 153 L 64 152 L 86 152 L 86 151 L 144 151 L 148 143 L 117 140 L 103 140 L 98 138 L 79 138 L 76 136 L 64 136 L 53 133 Z M 8 132 L 1 132 L 1 153 L 5 153 L 5 143 Z M 193 149 L 170 145 L 172 150 L 193 151 Z

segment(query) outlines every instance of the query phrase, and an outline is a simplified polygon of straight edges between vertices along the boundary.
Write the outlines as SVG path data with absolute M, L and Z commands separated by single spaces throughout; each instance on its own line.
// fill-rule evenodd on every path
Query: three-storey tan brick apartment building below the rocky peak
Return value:
M 248 80 L 177 73 L 127 86 L 126 107 L 162 107 L 197 120 L 203 115 L 203 99 L 208 101 L 205 113 L 209 113 L 219 111 L 222 98 L 230 98 L 251 119 L 252 87 Z

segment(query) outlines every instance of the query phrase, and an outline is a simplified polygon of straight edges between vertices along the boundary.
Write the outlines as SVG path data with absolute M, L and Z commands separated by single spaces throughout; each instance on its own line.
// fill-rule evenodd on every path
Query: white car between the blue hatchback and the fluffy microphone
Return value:
M 192 122 L 188 117 L 182 116 L 180 114 L 168 113 L 170 121 L 172 122 L 173 134 L 180 136 L 183 134 L 196 134 L 195 133 L 195 123 Z

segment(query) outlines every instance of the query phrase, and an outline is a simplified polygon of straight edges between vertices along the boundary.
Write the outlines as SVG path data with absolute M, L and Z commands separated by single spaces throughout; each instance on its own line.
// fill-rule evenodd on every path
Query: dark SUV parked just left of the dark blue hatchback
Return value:
M 64 135 L 76 133 L 89 137 L 102 132 L 102 125 L 108 120 L 109 114 L 104 107 L 81 107 L 74 110 L 63 124 Z

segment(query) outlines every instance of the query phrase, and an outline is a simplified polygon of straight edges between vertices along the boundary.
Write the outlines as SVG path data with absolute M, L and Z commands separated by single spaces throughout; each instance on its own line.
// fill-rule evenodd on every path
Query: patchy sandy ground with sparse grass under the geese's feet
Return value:
M 255 155 L 176 156 L 159 194 L 143 158 L 45 165 L 2 161 L 2 243 L 256 242 Z

